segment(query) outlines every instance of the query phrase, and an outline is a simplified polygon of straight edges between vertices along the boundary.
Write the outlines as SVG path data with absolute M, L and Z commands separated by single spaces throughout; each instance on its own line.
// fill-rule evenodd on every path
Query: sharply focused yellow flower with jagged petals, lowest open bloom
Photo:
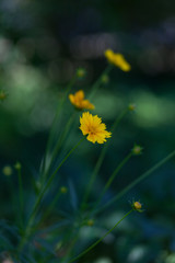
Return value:
M 83 135 L 88 135 L 86 139 L 93 144 L 104 144 L 106 138 L 112 137 L 112 133 L 106 130 L 106 125 L 102 123 L 102 119 L 91 113 L 85 112 L 80 117 L 80 129 Z

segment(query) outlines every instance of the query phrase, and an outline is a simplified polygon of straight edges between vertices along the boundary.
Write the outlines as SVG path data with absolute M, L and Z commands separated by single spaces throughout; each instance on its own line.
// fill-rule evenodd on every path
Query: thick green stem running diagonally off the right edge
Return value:
M 164 159 L 162 159 L 160 162 L 158 162 L 154 167 L 152 167 L 151 169 L 149 169 L 147 172 L 142 173 L 138 179 L 136 179 L 132 183 L 130 183 L 128 186 L 126 186 L 122 191 L 120 191 L 112 201 L 109 201 L 106 205 L 104 205 L 103 207 L 101 207 L 100 210 L 103 210 L 104 208 L 106 208 L 107 206 L 112 205 L 113 203 L 115 203 L 117 199 L 119 199 L 120 197 L 122 197 L 129 190 L 133 188 L 137 184 L 139 184 L 141 181 L 143 181 L 144 179 L 147 179 L 151 173 L 153 173 L 155 170 L 158 170 L 159 168 L 161 168 L 165 162 L 167 162 L 170 159 L 172 159 L 173 157 L 175 157 L 175 151 L 171 152 L 167 157 L 165 157 Z

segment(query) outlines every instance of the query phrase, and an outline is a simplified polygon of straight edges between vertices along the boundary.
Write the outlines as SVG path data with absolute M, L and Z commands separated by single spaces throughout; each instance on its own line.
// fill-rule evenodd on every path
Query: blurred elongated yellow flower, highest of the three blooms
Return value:
M 131 66 L 119 53 L 114 53 L 112 49 L 107 49 L 105 50 L 105 57 L 107 58 L 108 62 L 120 68 L 122 71 L 129 71 L 131 69 Z

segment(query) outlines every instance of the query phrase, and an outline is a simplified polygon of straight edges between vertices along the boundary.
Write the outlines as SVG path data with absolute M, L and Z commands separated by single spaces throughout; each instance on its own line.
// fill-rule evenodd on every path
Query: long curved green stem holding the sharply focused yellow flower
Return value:
M 39 208 L 39 205 L 42 203 L 42 199 L 45 195 L 45 193 L 47 192 L 47 190 L 49 188 L 50 184 L 52 183 L 57 172 L 59 171 L 59 169 L 62 167 L 62 164 L 66 162 L 66 160 L 69 158 L 69 156 L 78 148 L 78 146 L 85 139 L 85 137 L 83 137 L 81 140 L 79 140 L 79 142 L 68 152 L 68 155 L 63 158 L 63 160 L 60 162 L 60 164 L 58 165 L 58 168 L 55 170 L 55 172 L 51 174 L 51 176 L 48 179 L 46 185 L 44 186 L 43 191 L 40 192 L 40 194 L 38 195 L 37 199 L 36 199 L 36 203 L 34 205 L 34 208 L 33 208 L 33 211 L 30 216 L 30 219 L 28 219 L 28 224 L 26 226 L 26 229 L 25 229 L 25 232 L 24 232 L 24 236 L 19 244 L 19 252 L 22 250 L 22 248 L 24 247 L 25 244 L 25 241 L 27 240 L 28 236 L 30 236 L 30 232 L 31 232 L 31 228 L 32 228 L 32 225 L 34 222 L 34 219 L 35 219 L 35 216 L 36 216 L 36 213 Z

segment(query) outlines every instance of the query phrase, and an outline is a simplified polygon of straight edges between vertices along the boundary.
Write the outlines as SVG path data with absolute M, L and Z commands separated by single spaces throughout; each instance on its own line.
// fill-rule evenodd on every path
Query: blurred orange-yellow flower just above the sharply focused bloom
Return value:
M 84 100 L 84 92 L 82 90 L 73 94 L 69 94 L 69 100 L 78 110 L 94 110 L 94 105 L 89 100 Z

